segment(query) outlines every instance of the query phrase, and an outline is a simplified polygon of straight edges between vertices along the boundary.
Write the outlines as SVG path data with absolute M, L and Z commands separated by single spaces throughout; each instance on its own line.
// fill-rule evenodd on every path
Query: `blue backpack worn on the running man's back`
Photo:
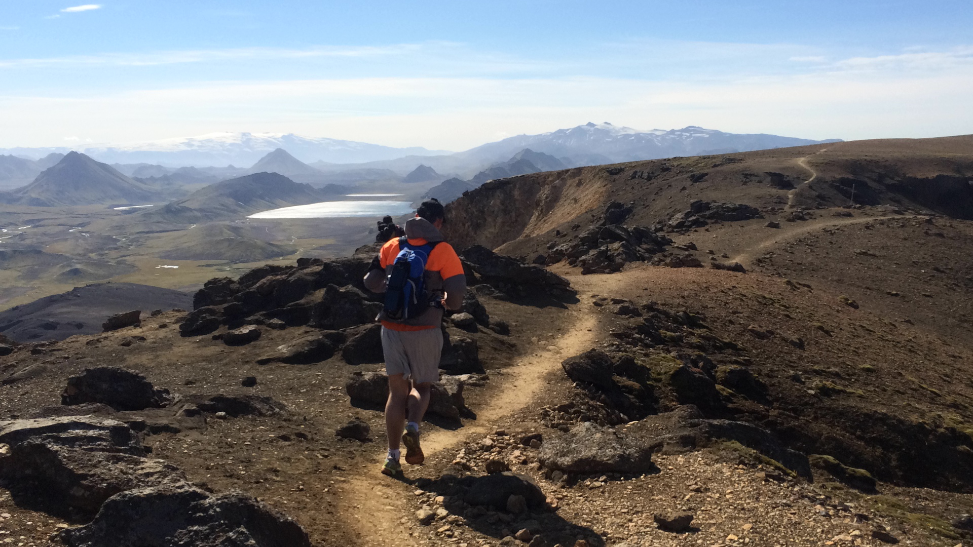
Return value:
M 413 319 L 429 308 L 424 274 L 429 254 L 437 243 L 412 245 L 408 237 L 399 237 L 399 254 L 385 284 L 385 316 L 389 319 Z

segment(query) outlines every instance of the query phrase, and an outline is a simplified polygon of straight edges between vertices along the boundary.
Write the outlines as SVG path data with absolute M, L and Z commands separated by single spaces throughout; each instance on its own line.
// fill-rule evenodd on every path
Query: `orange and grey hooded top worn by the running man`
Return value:
M 424 245 L 438 241 L 429 259 L 426 261 L 425 290 L 436 300 L 446 294 L 446 306 L 450 310 L 458 310 L 463 303 L 466 292 L 466 274 L 463 265 L 456 256 L 452 245 L 443 240 L 443 235 L 429 221 L 415 217 L 406 222 L 406 237 L 411 245 Z M 391 273 L 392 264 L 399 254 L 399 238 L 390 239 L 381 247 L 378 262 L 383 270 L 373 270 L 365 275 L 365 286 L 372 292 L 385 292 L 385 280 Z M 438 328 L 443 321 L 443 309 L 429 307 L 418 317 L 405 321 L 393 321 L 385 316 L 384 311 L 378 314 L 383 327 L 395 331 L 417 331 Z

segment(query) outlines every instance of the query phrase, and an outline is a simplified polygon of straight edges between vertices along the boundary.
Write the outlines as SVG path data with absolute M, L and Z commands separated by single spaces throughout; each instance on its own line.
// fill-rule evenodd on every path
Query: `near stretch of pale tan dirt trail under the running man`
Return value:
M 589 277 L 602 277 L 591 275 Z M 610 277 L 610 276 L 604 276 Z M 572 278 L 572 284 L 576 280 Z M 615 281 L 612 277 L 599 280 L 599 285 Z M 588 283 L 586 283 L 588 284 Z M 583 301 L 586 294 L 579 290 Z M 465 421 L 457 430 L 440 429 L 422 436 L 422 449 L 426 459 L 437 457 L 463 440 L 492 432 L 498 419 L 515 413 L 531 404 L 542 394 L 545 377 L 560 367 L 560 362 L 570 355 L 591 349 L 595 345 L 597 317 L 587 307 L 577 306 L 571 311 L 566 323 L 570 330 L 546 347 L 524 355 L 518 363 L 504 370 L 505 374 L 494 376 L 490 382 L 496 393 L 487 406 L 473 409 L 477 419 Z M 499 389 L 497 389 L 499 387 Z M 385 456 L 383 432 L 377 432 L 375 459 L 361 465 L 357 472 L 342 484 L 342 502 L 336 510 L 344 524 L 344 529 L 355 530 L 358 545 L 411 545 L 414 538 L 409 533 L 407 523 L 414 522 L 407 499 L 412 496 L 413 488 L 405 482 L 395 481 L 381 475 L 378 468 Z M 408 474 L 409 465 L 405 465 Z

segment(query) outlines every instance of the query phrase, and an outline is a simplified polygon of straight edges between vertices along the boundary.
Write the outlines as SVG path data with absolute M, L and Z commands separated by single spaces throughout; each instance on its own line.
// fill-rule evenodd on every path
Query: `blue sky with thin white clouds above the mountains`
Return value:
M 100 1 L 100 0 L 97 0 Z M 0 0 L 0 147 L 973 132 L 973 3 Z

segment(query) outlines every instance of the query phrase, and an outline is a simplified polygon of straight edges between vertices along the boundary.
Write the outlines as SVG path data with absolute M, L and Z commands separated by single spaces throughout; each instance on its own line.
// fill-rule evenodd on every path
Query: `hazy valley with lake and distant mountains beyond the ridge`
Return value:
M 11 153 L 0 156 L 0 306 L 105 280 L 194 290 L 261 261 L 341 256 L 368 242 L 381 216 L 428 197 L 455 200 L 488 180 L 814 142 L 590 123 L 459 153 L 249 133 L 0 151 Z

